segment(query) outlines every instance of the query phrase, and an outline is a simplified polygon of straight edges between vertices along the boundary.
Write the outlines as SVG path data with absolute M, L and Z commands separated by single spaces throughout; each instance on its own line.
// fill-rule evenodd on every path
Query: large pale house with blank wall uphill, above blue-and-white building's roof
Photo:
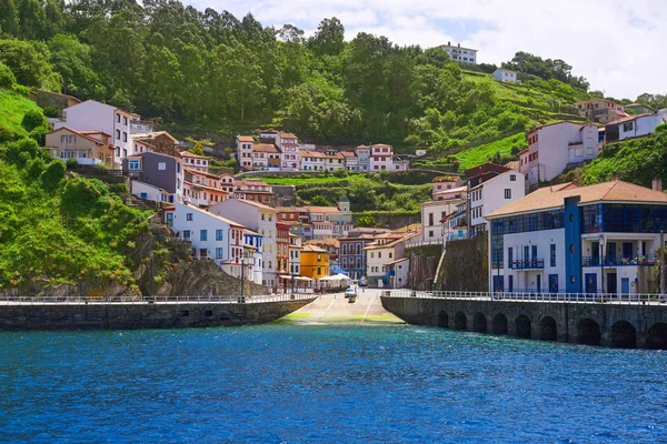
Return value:
M 600 148 L 594 124 L 545 124 L 526 132 L 526 139 L 528 149 L 519 153 L 519 171 L 528 178 L 528 186 L 552 180 L 568 164 L 597 159 Z

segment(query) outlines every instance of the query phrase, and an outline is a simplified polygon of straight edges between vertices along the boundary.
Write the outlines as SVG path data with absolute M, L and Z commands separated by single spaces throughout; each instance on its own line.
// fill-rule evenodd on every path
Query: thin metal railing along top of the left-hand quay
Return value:
M 267 302 L 303 301 L 316 297 L 312 294 L 271 294 L 259 296 L 118 296 L 118 297 L 82 297 L 82 296 L 4 296 L 0 305 L 80 305 L 80 304 L 256 304 Z

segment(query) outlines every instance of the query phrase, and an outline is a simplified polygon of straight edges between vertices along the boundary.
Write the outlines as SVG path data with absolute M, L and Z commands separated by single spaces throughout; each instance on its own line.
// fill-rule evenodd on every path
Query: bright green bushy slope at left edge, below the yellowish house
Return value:
M 30 111 L 43 121 L 32 101 L 0 90 L 0 289 L 135 285 L 131 253 L 149 214 L 40 150 L 21 125 Z

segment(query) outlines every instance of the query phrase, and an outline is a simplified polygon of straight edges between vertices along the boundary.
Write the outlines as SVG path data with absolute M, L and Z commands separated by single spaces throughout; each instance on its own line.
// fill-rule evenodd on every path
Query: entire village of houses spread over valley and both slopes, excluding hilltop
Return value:
M 407 286 L 414 276 L 410 249 L 435 244 L 446 251 L 449 242 L 487 233 L 494 291 L 648 292 L 667 228 L 661 183 L 655 181 L 653 190 L 620 181 L 545 184 L 596 159 L 605 142 L 650 134 L 667 119 L 665 110 L 603 102 L 589 99 L 580 109 L 604 110 L 590 114 L 608 120 L 604 127 L 537 127 L 526 133 L 528 148 L 518 161 L 434 179 L 421 223 L 400 230 L 354 226 L 345 195 L 336 206 L 279 206 L 268 183 L 216 173 L 208 158 L 183 150 L 152 122 L 94 101 L 68 103 L 51 120 L 44 149 L 80 164 L 122 169 L 135 196 L 160 203 L 165 223 L 188 243 L 192 259 L 275 291 L 312 292 L 336 285 L 337 276 Z M 345 152 L 301 144 L 291 133 L 257 139 L 237 137 L 237 157 L 247 170 L 405 169 L 390 145 Z

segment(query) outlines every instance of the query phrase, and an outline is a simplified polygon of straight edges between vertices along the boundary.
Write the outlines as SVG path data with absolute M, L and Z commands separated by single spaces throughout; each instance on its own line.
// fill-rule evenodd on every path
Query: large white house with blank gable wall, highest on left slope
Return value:
M 62 120 L 56 122 L 53 129 L 68 127 L 77 131 L 98 130 L 111 134 L 109 144 L 116 149 L 113 162 L 120 168 L 122 159 L 131 154 L 130 123 L 133 118 L 137 114 L 87 100 L 62 110 Z

